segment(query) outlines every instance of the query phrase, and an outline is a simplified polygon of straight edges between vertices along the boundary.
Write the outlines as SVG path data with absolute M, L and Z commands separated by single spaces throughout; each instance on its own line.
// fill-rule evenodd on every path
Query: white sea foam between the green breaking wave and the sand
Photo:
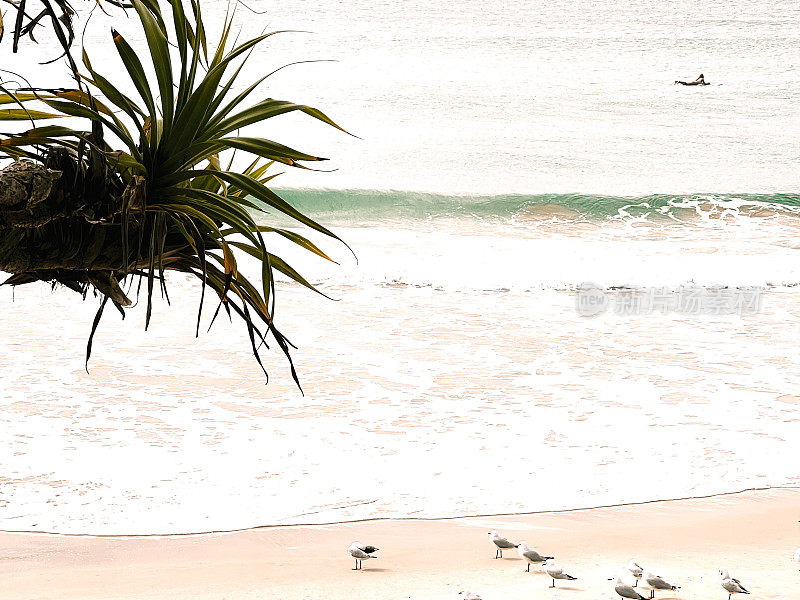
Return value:
M 361 262 L 338 251 L 346 283 L 323 277 L 339 302 L 279 288 L 278 324 L 300 346 L 304 397 L 275 353 L 263 385 L 238 324 L 221 319 L 195 340 L 185 307 L 195 306 L 196 287 L 180 277 L 170 278 L 173 307 L 157 306 L 149 333 L 142 311 L 125 322 L 106 315 L 88 375 L 82 351 L 96 302 L 44 286 L 19 288 L 11 302 L 0 290 L 13 317 L 0 323 L 0 527 L 190 532 L 798 481 L 788 458 L 759 459 L 790 456 L 800 427 L 796 288 L 768 290 L 762 312 L 744 317 L 587 319 L 573 292 L 553 286 L 559 272 L 583 278 L 585 256 L 627 251 L 628 261 L 590 263 L 604 265 L 608 281 L 664 281 L 651 269 L 669 264 L 669 241 L 630 241 L 621 228 L 618 247 L 607 230 L 593 248 L 563 231 L 531 240 L 463 227 L 341 229 Z M 718 234 L 706 248 L 728 245 Z M 785 261 L 790 251 L 768 242 L 756 236 L 750 247 Z M 672 242 L 679 277 L 706 256 L 703 243 Z M 493 262 L 469 260 L 473 248 Z M 743 283 L 769 272 L 770 261 L 746 271 L 735 258 L 707 272 Z M 306 271 L 321 272 L 314 264 Z M 403 278 L 413 285 L 391 283 Z M 535 457 L 520 457 L 520 446 Z M 570 476 L 548 464 L 568 464 Z M 652 465 L 668 488 L 627 485 Z

